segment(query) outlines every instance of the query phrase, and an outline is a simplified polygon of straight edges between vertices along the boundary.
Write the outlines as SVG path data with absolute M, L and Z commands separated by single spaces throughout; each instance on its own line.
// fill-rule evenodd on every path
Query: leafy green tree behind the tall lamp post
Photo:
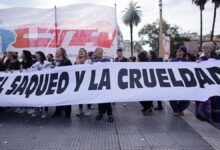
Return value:
M 159 31 L 160 31 L 159 20 L 153 22 L 152 24 L 146 24 L 139 31 L 139 36 L 147 36 L 147 40 L 142 42 L 143 45 L 149 44 L 153 51 L 157 54 L 159 53 Z M 175 56 L 176 49 L 183 45 L 184 42 L 189 41 L 188 38 L 180 37 L 178 32 L 179 27 L 168 24 L 163 20 L 163 32 L 166 36 L 170 37 L 170 52 L 171 56 Z

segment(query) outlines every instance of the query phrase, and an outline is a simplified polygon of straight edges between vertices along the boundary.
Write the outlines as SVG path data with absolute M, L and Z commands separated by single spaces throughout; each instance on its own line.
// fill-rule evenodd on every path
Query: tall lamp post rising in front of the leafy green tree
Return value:
M 163 58 L 163 17 L 162 17 L 162 0 L 159 0 L 160 8 L 160 36 L 159 36 L 159 57 Z

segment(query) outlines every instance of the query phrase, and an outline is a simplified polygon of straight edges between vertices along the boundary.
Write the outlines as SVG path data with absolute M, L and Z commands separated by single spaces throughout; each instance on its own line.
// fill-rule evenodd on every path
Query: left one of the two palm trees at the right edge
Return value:
M 205 4 L 208 0 L 192 0 L 200 9 L 200 49 L 202 49 L 202 11 L 205 9 Z

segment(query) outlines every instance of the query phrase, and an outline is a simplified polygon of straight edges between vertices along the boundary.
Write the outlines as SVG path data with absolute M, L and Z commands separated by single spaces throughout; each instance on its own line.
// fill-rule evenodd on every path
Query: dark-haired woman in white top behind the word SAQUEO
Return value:
M 44 68 L 49 68 L 50 63 L 46 60 L 46 56 L 43 52 L 37 51 L 35 53 L 36 63 L 31 66 L 31 70 L 42 70 Z M 41 116 L 41 118 L 47 118 L 48 116 L 48 107 L 44 108 L 35 108 L 32 117 Z

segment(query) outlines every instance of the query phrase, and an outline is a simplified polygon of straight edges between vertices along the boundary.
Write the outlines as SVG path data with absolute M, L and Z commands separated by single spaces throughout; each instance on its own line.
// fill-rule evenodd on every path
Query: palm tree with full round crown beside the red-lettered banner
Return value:
M 139 10 L 140 8 L 140 6 L 137 6 L 137 2 L 131 1 L 128 8 L 123 11 L 122 21 L 125 25 L 130 27 L 131 56 L 133 56 L 133 26 L 137 26 L 141 22 L 142 11 Z

